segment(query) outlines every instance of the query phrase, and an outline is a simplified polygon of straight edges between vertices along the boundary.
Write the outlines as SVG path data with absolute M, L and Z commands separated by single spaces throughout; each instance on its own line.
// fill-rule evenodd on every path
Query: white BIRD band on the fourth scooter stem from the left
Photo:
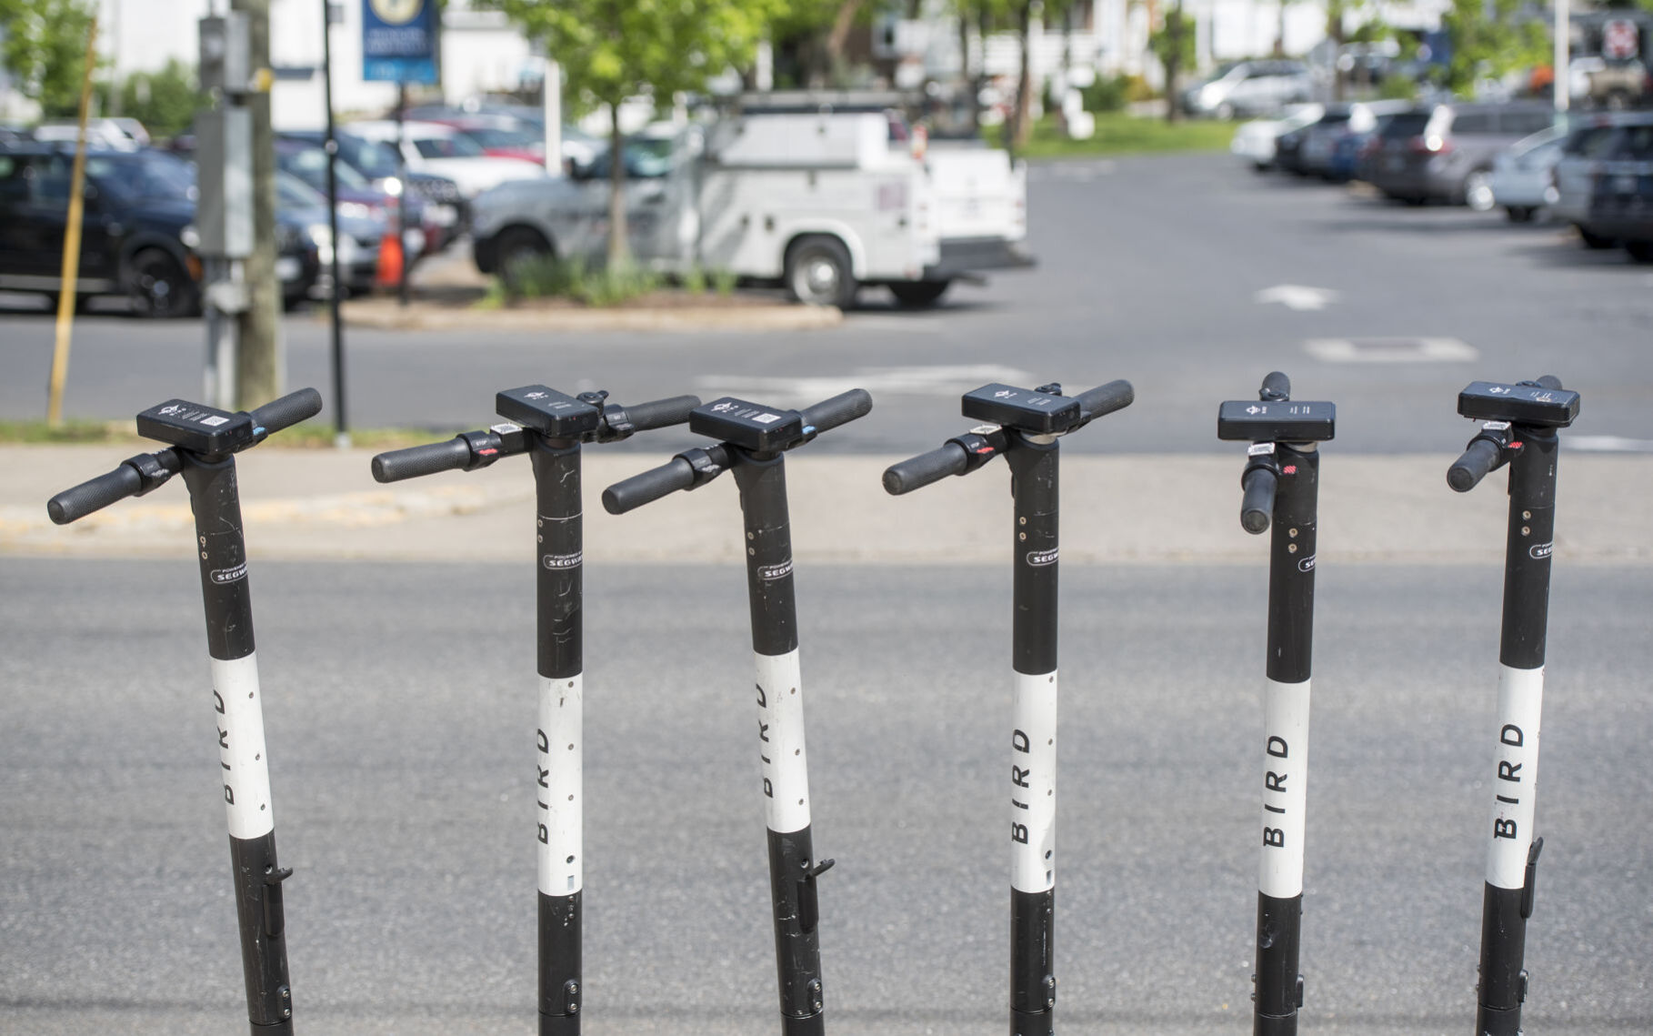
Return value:
M 1010 734 L 1010 887 L 1056 886 L 1056 674 L 1017 672 Z

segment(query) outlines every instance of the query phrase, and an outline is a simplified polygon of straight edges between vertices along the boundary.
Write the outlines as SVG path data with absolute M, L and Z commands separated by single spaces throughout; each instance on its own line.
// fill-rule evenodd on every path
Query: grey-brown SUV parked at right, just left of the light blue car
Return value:
M 1493 157 L 1554 124 L 1549 104 L 1448 101 L 1400 112 L 1379 134 L 1369 182 L 1390 198 L 1493 208 Z

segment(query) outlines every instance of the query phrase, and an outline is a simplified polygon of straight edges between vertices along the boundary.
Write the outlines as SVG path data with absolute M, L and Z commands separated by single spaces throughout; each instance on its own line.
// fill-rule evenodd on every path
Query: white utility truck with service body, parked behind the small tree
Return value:
M 874 112 L 752 114 L 626 140 L 626 238 L 663 273 L 729 271 L 848 306 L 883 284 L 909 306 L 955 279 L 1030 266 L 1027 178 L 987 149 L 914 154 Z M 526 256 L 600 261 L 608 155 L 577 178 L 501 183 L 473 202 L 483 273 Z

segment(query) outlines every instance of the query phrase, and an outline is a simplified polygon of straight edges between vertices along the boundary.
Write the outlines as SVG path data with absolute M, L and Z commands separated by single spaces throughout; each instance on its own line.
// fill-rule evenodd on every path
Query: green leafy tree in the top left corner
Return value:
M 48 119 L 79 111 L 86 33 L 96 12 L 96 0 L 0 0 L 0 61 Z

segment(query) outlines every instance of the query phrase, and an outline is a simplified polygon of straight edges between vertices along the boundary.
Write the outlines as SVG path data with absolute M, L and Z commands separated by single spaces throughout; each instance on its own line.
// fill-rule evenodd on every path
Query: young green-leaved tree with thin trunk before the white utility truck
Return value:
M 746 66 L 782 0 L 488 0 L 562 64 L 569 91 L 608 106 L 608 264 L 628 261 L 620 104 L 704 89 Z

